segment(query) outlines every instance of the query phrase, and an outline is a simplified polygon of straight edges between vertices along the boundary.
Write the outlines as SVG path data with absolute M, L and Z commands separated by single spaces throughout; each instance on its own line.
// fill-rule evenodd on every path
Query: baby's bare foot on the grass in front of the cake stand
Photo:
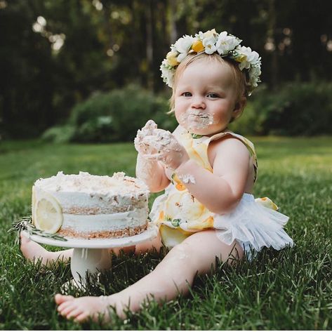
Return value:
M 59 314 L 79 323 L 89 318 L 98 321 L 100 315 L 102 315 L 103 321 L 109 321 L 109 306 L 114 305 L 117 306 L 117 310 L 120 309 L 120 303 L 117 303 L 112 296 L 74 298 L 73 296 L 56 294 L 55 303 L 58 305 Z

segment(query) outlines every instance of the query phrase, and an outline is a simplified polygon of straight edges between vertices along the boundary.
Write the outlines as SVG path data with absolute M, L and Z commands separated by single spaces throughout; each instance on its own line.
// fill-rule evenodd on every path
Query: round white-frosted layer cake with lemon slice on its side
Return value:
M 147 229 L 149 190 L 124 173 L 86 172 L 36 180 L 32 223 L 39 230 L 75 239 L 129 237 Z

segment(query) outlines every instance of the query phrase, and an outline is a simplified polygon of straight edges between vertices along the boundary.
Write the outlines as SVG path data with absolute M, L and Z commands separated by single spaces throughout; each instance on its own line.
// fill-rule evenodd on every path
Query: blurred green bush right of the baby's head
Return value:
M 332 134 L 332 83 L 293 82 L 255 91 L 232 130 L 251 135 Z

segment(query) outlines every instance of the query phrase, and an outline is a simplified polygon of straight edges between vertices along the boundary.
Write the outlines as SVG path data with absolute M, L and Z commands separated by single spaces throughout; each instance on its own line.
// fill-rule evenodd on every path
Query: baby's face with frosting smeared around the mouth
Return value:
M 213 135 L 223 131 L 238 115 L 235 105 L 234 77 L 228 65 L 201 60 L 178 77 L 175 117 L 190 133 Z

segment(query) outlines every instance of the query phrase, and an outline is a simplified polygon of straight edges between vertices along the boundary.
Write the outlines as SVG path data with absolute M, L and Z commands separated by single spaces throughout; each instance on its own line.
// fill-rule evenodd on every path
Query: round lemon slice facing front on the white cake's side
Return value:
M 34 209 L 34 225 L 39 230 L 54 234 L 62 225 L 62 208 L 51 195 L 43 194 L 36 202 Z

